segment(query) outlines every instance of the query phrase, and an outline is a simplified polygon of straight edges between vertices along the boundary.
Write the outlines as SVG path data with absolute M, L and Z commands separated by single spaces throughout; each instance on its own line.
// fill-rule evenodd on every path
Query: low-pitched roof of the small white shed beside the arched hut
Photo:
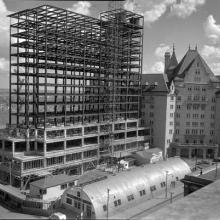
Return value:
M 30 184 L 40 189 L 47 189 L 53 186 L 69 183 L 78 179 L 79 179 L 78 175 L 68 176 L 66 174 L 60 174 L 60 175 L 47 176 L 43 179 L 31 182 Z

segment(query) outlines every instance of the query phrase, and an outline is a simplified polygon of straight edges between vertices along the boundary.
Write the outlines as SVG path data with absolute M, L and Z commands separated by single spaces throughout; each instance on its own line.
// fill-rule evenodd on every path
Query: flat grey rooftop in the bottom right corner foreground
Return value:
M 143 220 L 194 220 L 219 219 L 220 180 L 170 204 Z

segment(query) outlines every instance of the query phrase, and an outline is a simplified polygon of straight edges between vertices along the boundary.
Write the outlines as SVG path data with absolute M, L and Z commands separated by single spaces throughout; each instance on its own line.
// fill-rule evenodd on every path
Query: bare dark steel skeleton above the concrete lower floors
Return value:
M 95 19 L 46 5 L 10 18 L 9 124 L 139 118 L 142 16 L 117 9 Z

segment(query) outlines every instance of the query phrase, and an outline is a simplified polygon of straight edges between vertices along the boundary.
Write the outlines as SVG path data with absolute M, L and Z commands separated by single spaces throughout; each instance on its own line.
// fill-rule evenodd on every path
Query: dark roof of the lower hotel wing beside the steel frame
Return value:
M 167 75 L 163 73 L 147 73 L 142 75 L 142 85 L 146 85 L 148 83 L 148 86 L 150 85 L 157 85 L 152 91 L 154 92 L 168 92 L 168 79 Z

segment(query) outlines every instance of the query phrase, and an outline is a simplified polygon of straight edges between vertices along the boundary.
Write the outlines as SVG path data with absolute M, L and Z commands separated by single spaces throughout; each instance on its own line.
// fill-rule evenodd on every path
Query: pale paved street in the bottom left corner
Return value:
M 47 217 L 40 217 L 35 215 L 22 214 L 12 212 L 0 204 L 0 219 L 48 219 Z

